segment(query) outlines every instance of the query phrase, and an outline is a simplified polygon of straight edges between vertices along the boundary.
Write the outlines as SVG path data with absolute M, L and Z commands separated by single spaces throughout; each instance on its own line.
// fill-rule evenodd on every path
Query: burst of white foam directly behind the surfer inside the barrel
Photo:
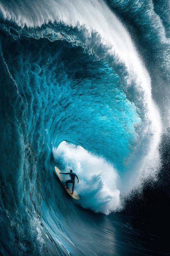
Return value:
M 117 189 L 118 174 L 115 168 L 105 159 L 92 155 L 81 146 L 75 146 L 63 141 L 59 147 L 53 148 L 53 155 L 62 171 L 70 169 L 79 177 L 75 189 L 84 208 L 105 214 L 119 207 L 119 190 Z M 58 166 L 60 168 L 60 166 Z

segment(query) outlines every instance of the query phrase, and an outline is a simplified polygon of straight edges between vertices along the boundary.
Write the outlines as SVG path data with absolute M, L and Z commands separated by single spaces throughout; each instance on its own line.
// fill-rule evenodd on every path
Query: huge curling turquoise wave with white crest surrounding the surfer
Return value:
M 121 211 L 125 195 L 157 178 L 164 118 L 159 96 L 152 99 L 158 85 L 104 2 L 2 1 L 0 17 L 4 239 L 17 230 L 20 243 L 10 248 L 36 254 L 35 244 L 41 251 L 52 240 L 58 254 L 79 252 L 68 212 L 85 225 L 85 208 Z M 66 198 L 55 165 L 78 174 L 79 202 Z

